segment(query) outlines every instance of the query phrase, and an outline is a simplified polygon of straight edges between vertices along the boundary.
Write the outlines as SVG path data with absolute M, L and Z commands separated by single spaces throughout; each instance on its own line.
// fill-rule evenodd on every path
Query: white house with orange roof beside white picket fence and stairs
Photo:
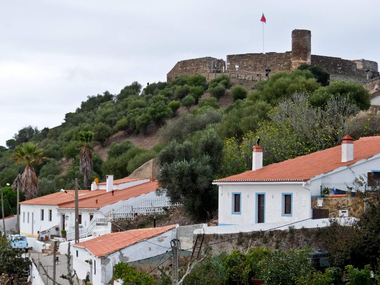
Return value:
M 150 181 L 147 178 L 140 179 L 138 182 L 140 184 L 125 189 L 110 190 L 99 196 L 81 199 L 79 201 L 79 237 L 92 235 L 97 226 L 105 226 L 111 219 L 133 218 L 135 214 L 150 212 L 157 213 L 163 206 L 170 206 L 169 199 L 165 195 L 156 195 L 157 180 Z M 74 239 L 74 202 L 60 204 L 57 211 L 62 216 L 60 226 L 67 230 L 67 239 Z M 103 233 L 101 231 L 101 234 Z

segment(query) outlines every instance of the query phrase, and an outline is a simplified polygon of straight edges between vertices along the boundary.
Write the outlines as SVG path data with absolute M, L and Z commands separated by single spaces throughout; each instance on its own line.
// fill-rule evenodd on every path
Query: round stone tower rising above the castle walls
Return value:
M 311 63 L 311 32 L 293 30 L 291 32 L 291 70 L 303 63 Z

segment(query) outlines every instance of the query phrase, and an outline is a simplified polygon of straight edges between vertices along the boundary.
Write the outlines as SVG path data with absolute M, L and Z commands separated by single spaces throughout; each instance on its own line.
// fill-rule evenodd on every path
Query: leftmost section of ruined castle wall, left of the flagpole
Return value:
M 201 70 L 224 69 L 224 60 L 215 57 L 200 57 L 198 59 L 181 60 L 166 75 L 166 80 L 172 81 L 181 74 L 193 75 Z

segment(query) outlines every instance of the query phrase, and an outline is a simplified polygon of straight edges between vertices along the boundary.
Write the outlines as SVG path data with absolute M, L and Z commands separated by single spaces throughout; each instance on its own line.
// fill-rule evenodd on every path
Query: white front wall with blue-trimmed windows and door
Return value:
M 241 193 L 241 214 L 232 214 L 232 193 Z M 265 223 L 293 222 L 311 215 L 310 191 L 302 183 L 238 184 L 219 186 L 219 225 L 257 222 L 257 193 L 265 194 Z M 282 193 L 293 194 L 292 215 L 282 216 Z

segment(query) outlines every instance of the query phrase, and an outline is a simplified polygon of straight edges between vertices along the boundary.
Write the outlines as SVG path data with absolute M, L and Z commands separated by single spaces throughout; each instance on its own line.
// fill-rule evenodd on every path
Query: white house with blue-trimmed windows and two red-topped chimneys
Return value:
M 213 181 L 219 225 L 311 218 L 311 198 L 323 188 L 364 190 L 371 173 L 380 173 L 380 136 L 347 135 L 340 146 L 264 167 L 263 147 L 253 146 L 252 170 Z

